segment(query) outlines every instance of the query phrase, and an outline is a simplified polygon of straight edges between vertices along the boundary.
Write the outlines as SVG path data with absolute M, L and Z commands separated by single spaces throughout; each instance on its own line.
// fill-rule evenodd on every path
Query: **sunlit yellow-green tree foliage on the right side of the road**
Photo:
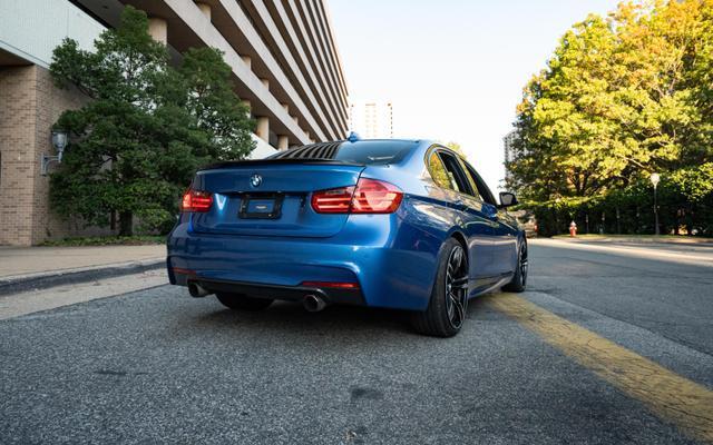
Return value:
M 670 202 L 673 215 L 662 206 L 672 229 L 686 224 L 680 217 L 686 209 L 703 206 L 695 211 L 705 215 L 713 187 L 713 1 L 625 2 L 607 19 L 576 23 L 526 86 L 516 127 L 508 186 L 547 220 L 558 198 L 576 207 L 570 214 L 600 207 L 606 215 L 604 207 L 622 199 L 641 207 L 651 199 L 652 171 L 662 176 L 662 198 L 680 200 Z M 619 208 L 619 226 L 621 215 Z M 635 218 L 625 226 L 653 231 Z

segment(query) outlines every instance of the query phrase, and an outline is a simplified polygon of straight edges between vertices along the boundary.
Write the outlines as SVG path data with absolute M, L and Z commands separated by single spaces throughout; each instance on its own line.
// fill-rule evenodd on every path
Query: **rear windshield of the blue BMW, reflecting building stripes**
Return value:
M 365 166 L 398 164 L 413 147 L 413 142 L 395 140 L 312 144 L 279 152 L 267 159 L 331 159 Z

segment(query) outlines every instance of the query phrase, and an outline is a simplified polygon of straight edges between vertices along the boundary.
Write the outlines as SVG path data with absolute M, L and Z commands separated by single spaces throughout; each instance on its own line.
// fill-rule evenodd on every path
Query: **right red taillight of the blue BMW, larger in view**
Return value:
M 377 179 L 361 178 L 356 187 L 340 187 L 312 194 L 318 214 L 391 214 L 399 208 L 403 191 Z

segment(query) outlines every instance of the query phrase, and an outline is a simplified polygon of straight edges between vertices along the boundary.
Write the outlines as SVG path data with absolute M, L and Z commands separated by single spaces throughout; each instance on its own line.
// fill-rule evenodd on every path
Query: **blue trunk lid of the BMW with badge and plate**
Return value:
M 213 206 L 192 215 L 193 229 L 236 236 L 333 236 L 348 215 L 315 212 L 311 195 L 354 186 L 363 169 L 334 160 L 272 159 L 226 162 L 198 171 L 192 187 L 212 192 Z

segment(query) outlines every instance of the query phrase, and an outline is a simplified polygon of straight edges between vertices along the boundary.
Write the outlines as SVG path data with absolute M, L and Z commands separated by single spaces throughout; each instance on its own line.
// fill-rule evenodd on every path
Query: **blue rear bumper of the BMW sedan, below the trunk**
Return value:
M 168 238 L 168 276 L 172 284 L 196 281 L 212 291 L 273 293 L 279 299 L 316 291 L 328 303 L 423 310 L 439 243 L 424 249 L 423 236 L 406 226 L 395 215 L 380 215 L 348 222 L 333 237 L 290 238 L 195 234 L 184 221 Z M 358 289 L 304 281 L 352 283 Z

